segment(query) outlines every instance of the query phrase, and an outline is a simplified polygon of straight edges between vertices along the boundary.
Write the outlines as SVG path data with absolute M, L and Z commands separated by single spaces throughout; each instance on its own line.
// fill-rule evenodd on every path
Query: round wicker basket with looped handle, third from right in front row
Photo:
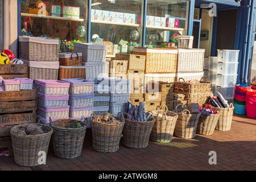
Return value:
M 179 115 L 175 126 L 175 135 L 179 138 L 191 139 L 196 137 L 197 124 L 200 113 L 190 114 L 189 110 L 183 110 Z

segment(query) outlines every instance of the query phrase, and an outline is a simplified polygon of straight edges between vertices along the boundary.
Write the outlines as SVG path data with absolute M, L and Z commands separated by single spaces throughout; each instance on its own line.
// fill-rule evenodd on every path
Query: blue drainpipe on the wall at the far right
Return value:
M 254 2 L 255 0 L 251 0 L 250 4 L 250 21 L 248 24 L 248 34 L 247 35 L 247 42 L 248 42 L 248 47 L 246 49 L 246 59 L 245 59 L 245 73 L 244 73 L 244 79 L 246 82 L 248 82 L 248 72 L 249 72 L 249 62 L 250 62 L 250 55 L 251 55 L 251 32 L 253 32 L 253 20 L 254 20 Z M 249 80 L 250 82 L 250 80 Z

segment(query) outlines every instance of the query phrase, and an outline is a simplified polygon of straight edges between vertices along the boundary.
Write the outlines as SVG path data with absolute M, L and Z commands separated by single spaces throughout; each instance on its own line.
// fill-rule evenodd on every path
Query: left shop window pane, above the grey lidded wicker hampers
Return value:
M 60 52 L 86 42 L 86 0 L 21 0 L 21 35 L 60 40 Z

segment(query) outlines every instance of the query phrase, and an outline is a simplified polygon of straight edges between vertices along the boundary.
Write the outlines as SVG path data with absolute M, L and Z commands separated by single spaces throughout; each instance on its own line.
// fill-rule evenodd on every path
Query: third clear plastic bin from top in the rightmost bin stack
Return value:
M 237 84 L 237 74 L 236 75 L 217 75 L 217 86 L 222 87 L 234 87 Z

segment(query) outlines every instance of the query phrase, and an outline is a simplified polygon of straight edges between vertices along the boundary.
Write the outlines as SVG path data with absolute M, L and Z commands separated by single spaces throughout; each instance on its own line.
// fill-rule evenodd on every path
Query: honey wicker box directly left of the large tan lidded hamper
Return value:
M 146 65 L 146 56 L 143 55 L 126 55 L 119 54 L 115 55 L 115 59 L 117 60 L 127 60 L 128 61 L 128 69 L 134 69 L 138 71 L 145 71 Z

